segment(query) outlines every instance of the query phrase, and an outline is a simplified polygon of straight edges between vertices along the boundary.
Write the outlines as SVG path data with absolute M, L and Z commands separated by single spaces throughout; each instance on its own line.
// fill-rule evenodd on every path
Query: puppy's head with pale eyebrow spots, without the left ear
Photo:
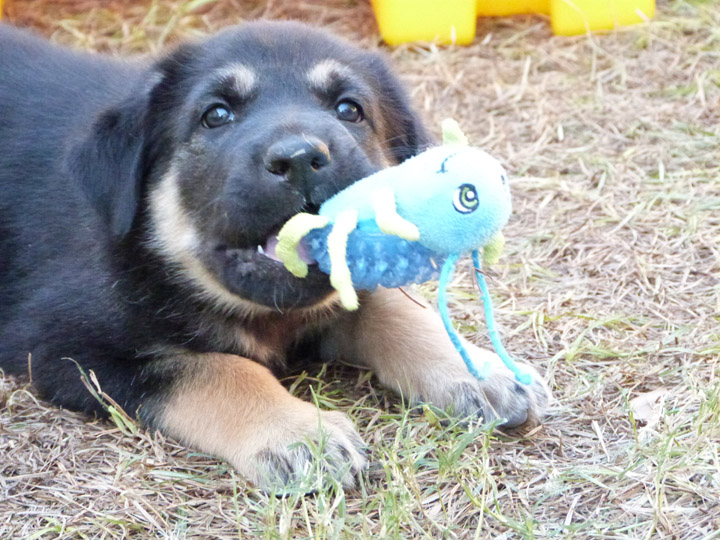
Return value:
M 133 113 L 143 119 L 140 185 L 125 190 L 144 200 L 154 249 L 225 306 L 327 300 L 327 276 L 311 266 L 293 277 L 272 240 L 297 212 L 427 144 L 384 61 L 300 24 L 263 22 L 185 45 L 157 72 Z

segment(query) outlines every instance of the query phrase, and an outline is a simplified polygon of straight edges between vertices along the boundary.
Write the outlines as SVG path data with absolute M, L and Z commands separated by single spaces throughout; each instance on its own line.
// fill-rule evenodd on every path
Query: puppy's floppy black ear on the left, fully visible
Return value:
M 128 233 L 137 211 L 147 103 L 148 94 L 141 93 L 100 113 L 66 164 L 115 237 Z

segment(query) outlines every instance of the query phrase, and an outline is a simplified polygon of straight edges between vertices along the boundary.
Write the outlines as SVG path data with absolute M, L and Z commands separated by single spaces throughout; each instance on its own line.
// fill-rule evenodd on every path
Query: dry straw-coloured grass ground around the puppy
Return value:
M 123 53 L 257 16 L 378 43 L 354 0 L 7 0 L 6 12 Z M 390 54 L 432 125 L 454 115 L 515 172 L 491 284 L 509 349 L 551 381 L 545 425 L 522 438 L 442 426 L 331 367 L 330 383 L 303 375 L 296 391 L 348 410 L 373 466 L 359 491 L 275 499 L 223 463 L 0 378 L 0 537 L 720 538 L 720 5 L 661 2 L 652 24 L 592 38 L 485 19 L 470 47 Z M 467 276 L 453 290 L 456 319 L 485 342 Z

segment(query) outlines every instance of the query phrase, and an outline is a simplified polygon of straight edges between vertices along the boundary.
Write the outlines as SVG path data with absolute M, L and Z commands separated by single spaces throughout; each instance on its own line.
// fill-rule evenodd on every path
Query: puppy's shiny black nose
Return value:
M 330 149 L 316 137 L 291 135 L 268 148 L 264 163 L 272 174 L 312 189 L 318 171 L 330 163 Z

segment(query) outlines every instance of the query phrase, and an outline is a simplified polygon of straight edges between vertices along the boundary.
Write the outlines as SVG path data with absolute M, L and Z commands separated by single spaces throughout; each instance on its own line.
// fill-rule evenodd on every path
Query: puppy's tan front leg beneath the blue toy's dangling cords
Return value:
M 434 310 L 397 289 L 379 289 L 328 333 L 323 355 L 371 368 L 380 382 L 411 402 L 429 402 L 462 417 L 505 418 L 506 426 L 539 422 L 550 392 L 537 371 L 523 366 L 533 376 L 526 387 L 496 354 L 465 346 L 478 365 L 492 363 L 485 380 L 468 372 Z

